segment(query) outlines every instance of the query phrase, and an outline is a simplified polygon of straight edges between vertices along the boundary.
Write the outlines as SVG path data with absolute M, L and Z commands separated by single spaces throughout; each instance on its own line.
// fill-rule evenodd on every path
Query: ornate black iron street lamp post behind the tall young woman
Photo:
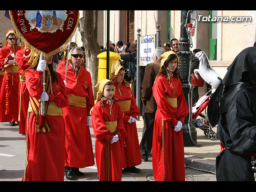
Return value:
M 186 17 L 187 17 L 188 11 L 182 10 L 181 11 L 181 25 L 180 25 L 180 50 L 177 53 L 179 58 L 180 58 L 180 63 L 179 63 L 179 69 L 180 73 L 183 78 L 183 92 L 184 96 L 186 98 L 187 104 L 189 104 L 188 100 L 190 97 L 188 96 L 189 90 L 190 90 L 190 85 L 188 82 L 189 79 L 189 65 L 190 65 L 190 43 L 188 40 L 188 35 L 186 32 Z M 182 133 L 183 133 L 183 140 L 184 140 L 184 146 L 194 146 L 197 140 L 197 133 L 196 133 L 196 128 L 189 123 L 189 114 L 186 116 L 184 120 L 184 126 L 182 126 Z

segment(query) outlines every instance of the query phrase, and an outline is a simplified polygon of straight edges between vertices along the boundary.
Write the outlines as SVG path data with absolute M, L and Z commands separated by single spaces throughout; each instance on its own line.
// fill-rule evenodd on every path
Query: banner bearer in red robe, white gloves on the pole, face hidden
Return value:
M 34 67 L 26 70 L 30 103 L 26 123 L 26 167 L 22 181 L 64 181 L 65 124 L 62 108 L 68 105 L 68 90 L 61 75 L 53 70 L 52 57 L 38 58 L 35 56 Z M 41 108 L 44 114 L 41 114 Z

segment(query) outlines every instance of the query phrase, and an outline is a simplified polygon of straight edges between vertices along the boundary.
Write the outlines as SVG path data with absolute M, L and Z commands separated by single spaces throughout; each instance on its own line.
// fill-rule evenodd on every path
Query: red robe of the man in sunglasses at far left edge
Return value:
M 20 50 L 20 46 L 17 46 L 12 53 L 16 55 L 16 52 Z M 4 46 L 0 49 L 0 68 L 7 70 L 4 73 L 1 91 L 0 91 L 0 120 L 1 122 L 16 122 L 18 121 L 18 90 L 19 90 L 19 73 L 18 71 L 8 72 L 12 66 L 17 66 L 16 63 L 10 64 L 8 67 L 9 60 L 14 60 L 10 56 L 9 46 Z

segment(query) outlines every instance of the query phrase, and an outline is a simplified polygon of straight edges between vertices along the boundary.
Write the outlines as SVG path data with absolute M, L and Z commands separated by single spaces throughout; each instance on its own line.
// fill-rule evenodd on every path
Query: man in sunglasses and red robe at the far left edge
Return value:
M 15 126 L 18 121 L 18 90 L 19 90 L 19 67 L 15 62 L 15 55 L 21 49 L 17 45 L 18 35 L 14 30 L 8 30 L 6 42 L 0 49 L 0 68 L 4 69 L 4 77 L 0 91 L 0 120 L 10 122 Z

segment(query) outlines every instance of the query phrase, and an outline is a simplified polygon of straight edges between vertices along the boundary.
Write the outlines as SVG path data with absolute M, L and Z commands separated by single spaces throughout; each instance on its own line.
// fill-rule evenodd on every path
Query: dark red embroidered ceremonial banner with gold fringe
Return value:
M 79 21 L 78 10 L 11 10 L 9 14 L 22 42 L 45 57 L 66 48 Z

